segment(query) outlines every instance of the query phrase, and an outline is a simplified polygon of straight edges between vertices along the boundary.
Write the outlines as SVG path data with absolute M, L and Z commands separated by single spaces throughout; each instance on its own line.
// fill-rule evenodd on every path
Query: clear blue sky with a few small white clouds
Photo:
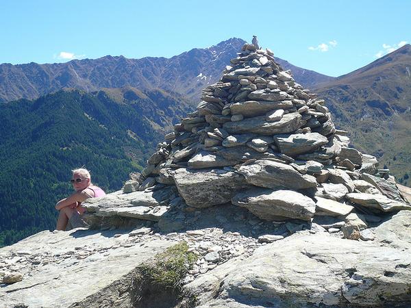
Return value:
M 411 1 L 1 1 L 0 63 L 171 57 L 237 37 L 338 76 L 411 42 Z

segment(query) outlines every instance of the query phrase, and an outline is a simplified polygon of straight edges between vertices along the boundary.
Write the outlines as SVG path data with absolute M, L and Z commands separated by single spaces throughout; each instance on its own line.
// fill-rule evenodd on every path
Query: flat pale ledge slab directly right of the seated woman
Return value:
M 154 192 L 114 192 L 101 198 L 89 198 L 82 205 L 87 214 L 96 217 L 128 217 L 158 221 L 169 208 L 172 190 L 160 189 Z

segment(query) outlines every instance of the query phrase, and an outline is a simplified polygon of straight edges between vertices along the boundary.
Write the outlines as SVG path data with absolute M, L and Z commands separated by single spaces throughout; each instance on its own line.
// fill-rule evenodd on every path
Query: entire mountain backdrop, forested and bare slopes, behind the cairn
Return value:
M 71 168 L 86 164 L 105 190 L 121 188 L 244 43 L 232 38 L 169 59 L 0 64 L 0 246 L 53 228 Z M 326 99 L 358 149 L 408 185 L 410 45 L 340 77 L 276 60 Z

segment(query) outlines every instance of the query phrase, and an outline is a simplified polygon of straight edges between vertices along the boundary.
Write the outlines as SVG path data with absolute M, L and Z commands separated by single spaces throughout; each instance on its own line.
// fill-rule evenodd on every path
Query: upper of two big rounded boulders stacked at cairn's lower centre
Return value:
M 245 176 L 248 183 L 264 188 L 291 188 L 299 190 L 316 187 L 316 179 L 311 175 L 301 175 L 287 164 L 258 160 L 240 166 L 238 172 Z

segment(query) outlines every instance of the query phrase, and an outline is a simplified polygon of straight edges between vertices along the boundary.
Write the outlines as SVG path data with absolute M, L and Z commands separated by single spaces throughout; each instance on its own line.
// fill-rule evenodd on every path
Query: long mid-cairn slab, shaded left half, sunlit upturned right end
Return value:
M 260 135 L 273 135 L 275 133 L 290 133 L 303 125 L 301 114 L 291 112 L 284 114 L 277 122 L 267 122 L 265 116 L 245 118 L 238 122 L 224 123 L 223 129 L 229 133 L 258 133 Z

